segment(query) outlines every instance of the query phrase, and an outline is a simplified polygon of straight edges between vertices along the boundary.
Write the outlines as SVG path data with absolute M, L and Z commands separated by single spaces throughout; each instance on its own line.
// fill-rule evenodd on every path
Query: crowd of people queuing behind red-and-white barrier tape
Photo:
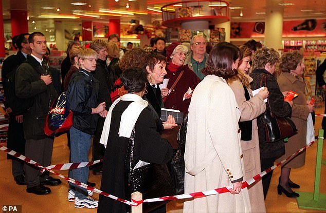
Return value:
M 6 100 L 12 95 L 30 99 L 32 104 L 16 112 L 9 101 L 5 103 L 10 114 L 8 147 L 43 166 L 50 165 L 53 138 L 44 134 L 43 127 L 51 103 L 65 91 L 74 113 L 67 132 L 70 162 L 89 161 L 93 146 L 92 160 L 103 159 L 92 168 L 94 175 L 102 175 L 101 190 L 127 199 L 129 170 L 171 161 L 173 149 L 162 133 L 177 124 L 172 115 L 162 122 L 161 108 L 179 110 L 189 116 L 185 193 L 232 186 L 229 193 L 185 201 L 184 212 L 266 212 L 264 199 L 273 171 L 247 188 L 242 188 L 242 182 L 306 143 L 307 117 L 314 106 L 305 96 L 302 53 L 292 51 L 280 57 L 275 49 L 256 41 L 240 47 L 220 42 L 208 52 L 204 34 L 194 35 L 190 44 L 169 46 L 165 38 L 154 38 L 145 49 L 128 44 L 128 51 L 119 48 L 119 41 L 114 33 L 108 43 L 95 40 L 89 48 L 69 43 L 60 85 L 60 72 L 47 63 L 50 51 L 44 34 L 19 35 L 19 51 L 5 60 L 2 69 L 3 81 L 15 72 L 14 94 L 5 84 L 5 95 Z M 168 83 L 161 86 L 164 80 Z M 298 98 L 284 100 L 290 90 Z M 286 142 L 267 143 L 264 113 L 290 117 L 297 134 Z M 282 166 L 279 195 L 299 197 L 292 188 L 300 186 L 289 176 L 304 161 L 303 151 Z M 12 159 L 12 175 L 17 184 L 27 185 L 27 192 L 37 195 L 51 192 L 44 185 L 61 183 L 17 159 Z M 88 167 L 69 171 L 70 178 L 95 186 L 88 176 Z M 76 208 L 130 211 L 119 201 L 102 195 L 97 201 L 92 195 L 93 191 L 69 183 L 68 201 L 74 201 Z M 151 212 L 165 212 L 165 205 Z

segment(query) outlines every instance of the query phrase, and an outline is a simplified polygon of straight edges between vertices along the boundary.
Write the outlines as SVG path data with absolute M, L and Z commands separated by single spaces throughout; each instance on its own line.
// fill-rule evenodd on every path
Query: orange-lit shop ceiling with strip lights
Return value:
M 71 5 L 71 3 L 86 3 L 85 5 Z M 107 21 L 111 18 L 120 18 L 121 23 L 128 23 L 132 19 L 161 20 L 161 13 L 151 9 L 158 9 L 164 5 L 178 1 L 171 0 L 3 0 L 4 20 L 10 19 L 10 10 L 28 10 L 28 16 L 31 20 L 44 19 L 43 17 L 55 17 L 55 20 L 63 20 L 63 15 L 74 15 L 76 19 Z M 180 2 L 180 1 L 179 1 Z M 212 1 L 214 2 L 214 1 Z M 326 0 L 232 0 L 230 1 L 230 16 L 233 22 L 244 21 L 264 21 L 267 4 L 279 5 L 286 3 L 283 17 L 285 20 L 298 20 L 305 18 L 325 18 L 326 17 Z M 129 4 L 129 8 L 126 8 Z M 292 4 L 292 5 L 291 5 Z M 60 11 L 57 9 L 60 8 Z M 235 9 L 231 9 L 235 8 Z M 237 9 L 238 8 L 238 9 Z M 268 7 L 269 8 L 269 7 Z M 99 12 L 101 9 L 110 11 L 124 11 L 130 14 L 105 13 Z M 159 9 L 158 9 L 159 10 Z M 243 16 L 240 16 L 242 12 Z M 74 14 L 75 13 L 75 14 Z M 139 14 L 144 13 L 144 14 Z M 147 13 L 147 14 L 146 14 Z M 111 14 L 111 15 L 109 15 Z M 46 16 L 48 15 L 48 16 Z M 57 17 L 56 17 L 57 16 Z M 91 17 L 92 16 L 92 17 Z M 94 17 L 93 17 L 94 16 Z

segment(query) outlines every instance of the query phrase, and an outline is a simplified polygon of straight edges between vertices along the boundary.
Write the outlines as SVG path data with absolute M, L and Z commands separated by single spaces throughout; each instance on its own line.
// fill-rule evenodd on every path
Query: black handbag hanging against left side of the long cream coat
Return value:
M 178 132 L 178 148 L 171 161 L 171 176 L 176 189 L 176 195 L 185 191 L 185 145 L 188 125 L 188 114 L 185 116 Z

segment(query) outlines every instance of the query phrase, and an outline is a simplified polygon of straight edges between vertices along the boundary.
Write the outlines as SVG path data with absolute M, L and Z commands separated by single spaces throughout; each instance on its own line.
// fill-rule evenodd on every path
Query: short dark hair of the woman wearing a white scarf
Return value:
M 146 87 L 147 73 L 141 68 L 130 67 L 122 72 L 120 80 L 128 93 L 140 92 Z

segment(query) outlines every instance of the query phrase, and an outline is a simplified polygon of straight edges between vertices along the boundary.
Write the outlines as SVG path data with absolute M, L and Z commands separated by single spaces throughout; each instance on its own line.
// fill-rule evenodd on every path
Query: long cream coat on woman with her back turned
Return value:
M 244 177 L 240 110 L 226 81 L 207 75 L 195 88 L 189 106 L 185 152 L 185 192 L 232 186 Z M 250 212 L 247 188 L 184 203 L 184 212 Z

